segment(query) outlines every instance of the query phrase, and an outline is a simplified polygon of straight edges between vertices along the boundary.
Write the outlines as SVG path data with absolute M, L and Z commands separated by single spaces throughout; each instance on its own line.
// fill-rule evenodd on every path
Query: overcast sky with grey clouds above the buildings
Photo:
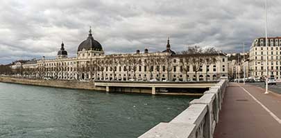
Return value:
M 280 0 L 269 0 L 268 33 L 280 36 Z M 265 35 L 265 0 L 1 0 L 0 64 L 55 58 L 62 41 L 69 57 L 92 26 L 106 55 L 139 49 L 214 47 L 246 50 Z

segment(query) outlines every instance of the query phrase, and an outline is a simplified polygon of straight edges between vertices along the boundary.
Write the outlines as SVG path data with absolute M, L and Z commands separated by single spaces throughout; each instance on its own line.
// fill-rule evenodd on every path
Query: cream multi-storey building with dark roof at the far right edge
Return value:
M 280 79 L 281 68 L 281 37 L 269 37 L 268 41 L 268 71 Z M 266 40 L 257 38 L 250 47 L 250 76 L 266 77 Z

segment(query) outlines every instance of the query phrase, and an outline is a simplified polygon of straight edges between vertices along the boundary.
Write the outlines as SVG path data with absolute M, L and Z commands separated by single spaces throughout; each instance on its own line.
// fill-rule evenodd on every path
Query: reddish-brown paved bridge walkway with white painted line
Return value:
M 264 89 L 230 83 L 223 99 L 215 138 L 280 138 L 281 96 Z

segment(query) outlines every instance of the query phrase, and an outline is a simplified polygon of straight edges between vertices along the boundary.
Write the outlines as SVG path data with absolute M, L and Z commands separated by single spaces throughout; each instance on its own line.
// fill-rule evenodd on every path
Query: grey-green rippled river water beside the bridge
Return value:
M 194 98 L 0 83 L 0 137 L 138 137 Z

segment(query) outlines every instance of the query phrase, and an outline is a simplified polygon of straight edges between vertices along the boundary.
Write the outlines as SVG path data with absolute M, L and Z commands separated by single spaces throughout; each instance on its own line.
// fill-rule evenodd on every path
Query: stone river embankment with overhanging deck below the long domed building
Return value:
M 76 81 L 76 80 L 44 80 L 22 77 L 1 76 L 0 82 L 19 83 L 33 86 L 55 88 L 71 88 L 83 90 L 100 90 L 105 92 L 143 93 L 150 95 L 187 95 L 202 96 L 203 92 L 216 84 L 210 82 L 110 82 L 110 81 Z

